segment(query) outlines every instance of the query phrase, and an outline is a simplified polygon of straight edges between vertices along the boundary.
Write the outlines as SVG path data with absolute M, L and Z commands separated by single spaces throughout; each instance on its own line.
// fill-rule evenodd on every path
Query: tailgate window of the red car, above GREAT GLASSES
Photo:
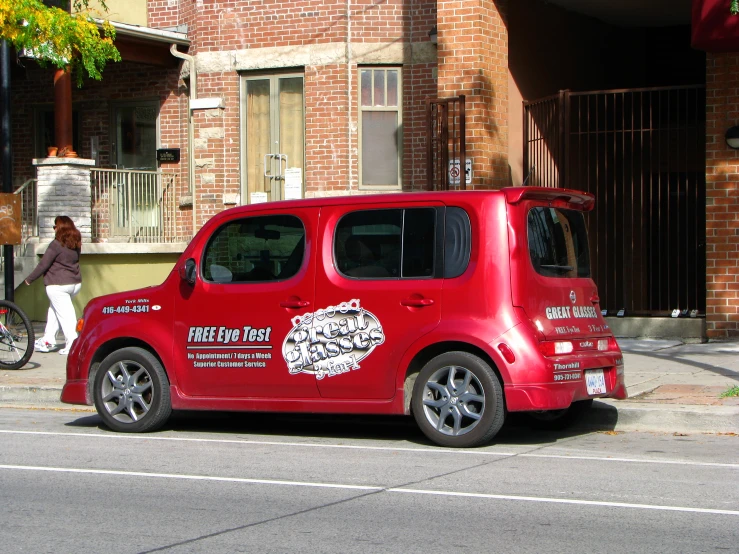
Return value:
M 588 234 L 581 212 L 532 208 L 528 239 L 537 273 L 546 277 L 590 277 Z

